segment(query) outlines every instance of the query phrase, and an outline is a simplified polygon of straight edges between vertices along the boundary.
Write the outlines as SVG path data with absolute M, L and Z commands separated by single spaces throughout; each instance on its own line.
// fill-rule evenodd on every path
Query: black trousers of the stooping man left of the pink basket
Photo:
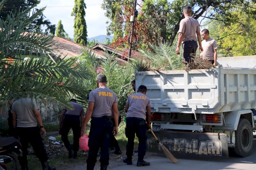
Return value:
M 81 127 L 80 127 L 80 116 L 65 114 L 63 123 L 61 126 L 61 140 L 63 141 L 65 147 L 70 150 L 71 144 L 68 140 L 68 133 L 70 128 L 73 130 L 73 150 L 77 152 L 79 150 L 79 138 L 81 136 Z

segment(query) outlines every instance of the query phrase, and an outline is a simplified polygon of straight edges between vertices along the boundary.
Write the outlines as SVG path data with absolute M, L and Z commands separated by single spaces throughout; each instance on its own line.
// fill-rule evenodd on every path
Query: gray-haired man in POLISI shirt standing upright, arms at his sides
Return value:
M 87 170 L 94 169 L 97 161 L 97 153 L 101 148 L 100 167 L 106 170 L 109 165 L 109 144 L 111 133 L 117 135 L 118 132 L 118 110 L 116 94 L 106 87 L 106 76 L 99 74 L 97 76 L 98 88 L 89 94 L 89 105 L 85 114 L 85 121 L 82 123 L 81 135 L 84 134 L 86 125 L 91 118 L 91 127 L 89 133 L 89 152 Z M 115 127 L 112 129 L 110 116 L 113 110 Z

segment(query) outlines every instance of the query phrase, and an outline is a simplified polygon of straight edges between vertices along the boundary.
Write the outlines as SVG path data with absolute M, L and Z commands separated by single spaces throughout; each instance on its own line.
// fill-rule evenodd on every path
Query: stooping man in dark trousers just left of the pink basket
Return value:
M 80 104 L 76 103 L 76 99 L 70 99 L 68 104 L 73 105 L 73 110 L 64 108 L 60 115 L 59 121 L 59 134 L 61 135 L 61 140 L 65 144 L 65 147 L 69 151 L 69 158 L 77 158 L 77 152 L 79 149 L 79 138 L 80 138 L 80 118 L 81 122 L 84 120 L 84 108 Z M 64 117 L 64 119 L 63 119 Z M 63 121 L 62 121 L 63 120 Z M 70 128 L 73 130 L 73 149 L 68 140 L 68 133 Z

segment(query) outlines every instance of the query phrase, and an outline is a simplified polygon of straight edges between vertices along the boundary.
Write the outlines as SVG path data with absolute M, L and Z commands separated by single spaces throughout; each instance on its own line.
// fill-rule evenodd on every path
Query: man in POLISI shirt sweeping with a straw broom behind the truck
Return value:
M 138 167 L 150 165 L 150 163 L 143 160 L 146 153 L 146 130 L 147 128 L 151 128 L 151 101 L 146 96 L 146 91 L 146 86 L 139 86 L 138 93 L 130 95 L 125 105 L 125 112 L 127 112 L 125 135 L 128 138 L 128 142 L 126 145 L 127 158 L 124 158 L 123 161 L 128 165 L 132 165 L 132 153 L 136 133 L 139 139 Z

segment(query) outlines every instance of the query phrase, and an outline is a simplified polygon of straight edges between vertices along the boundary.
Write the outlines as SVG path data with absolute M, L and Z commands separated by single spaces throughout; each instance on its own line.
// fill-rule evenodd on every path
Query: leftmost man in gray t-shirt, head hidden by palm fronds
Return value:
M 35 99 L 20 98 L 12 104 L 13 127 L 20 138 L 22 144 L 22 156 L 18 156 L 21 169 L 28 169 L 28 143 L 33 147 L 35 155 L 39 158 L 43 170 L 55 169 L 48 165 L 48 157 L 44 149 L 43 139 L 41 135 L 46 134 L 43 126 L 39 106 Z M 37 126 L 37 123 L 40 126 Z M 41 134 L 41 135 L 40 135 Z

